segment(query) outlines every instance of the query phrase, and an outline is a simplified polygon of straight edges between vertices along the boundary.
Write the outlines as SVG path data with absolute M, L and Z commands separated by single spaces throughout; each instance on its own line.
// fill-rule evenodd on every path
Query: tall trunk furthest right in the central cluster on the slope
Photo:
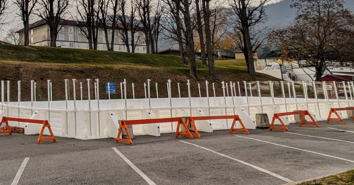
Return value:
M 209 67 L 209 77 L 212 82 L 217 81 L 216 71 L 214 65 L 214 51 L 212 47 L 211 31 L 210 31 L 210 9 L 209 0 L 202 0 L 202 8 L 204 13 L 204 29 L 205 29 L 205 40 L 206 40 L 206 52 L 208 55 L 208 67 Z

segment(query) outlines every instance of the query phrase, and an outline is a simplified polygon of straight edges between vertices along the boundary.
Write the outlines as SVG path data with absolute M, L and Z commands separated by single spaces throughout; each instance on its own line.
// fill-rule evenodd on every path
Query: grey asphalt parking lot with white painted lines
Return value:
M 351 119 L 288 126 L 290 133 L 200 132 L 201 139 L 136 136 L 42 141 L 0 135 L 0 184 L 286 184 L 354 168 Z

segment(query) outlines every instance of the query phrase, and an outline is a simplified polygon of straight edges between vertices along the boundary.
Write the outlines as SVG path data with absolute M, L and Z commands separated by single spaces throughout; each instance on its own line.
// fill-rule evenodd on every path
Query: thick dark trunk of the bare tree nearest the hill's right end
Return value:
M 247 73 L 250 74 L 251 76 L 256 76 L 257 73 L 255 69 L 255 63 L 253 60 L 253 48 L 251 44 L 250 30 L 247 26 L 243 26 L 243 29 L 244 29 L 244 33 L 243 33 L 244 56 L 247 65 Z

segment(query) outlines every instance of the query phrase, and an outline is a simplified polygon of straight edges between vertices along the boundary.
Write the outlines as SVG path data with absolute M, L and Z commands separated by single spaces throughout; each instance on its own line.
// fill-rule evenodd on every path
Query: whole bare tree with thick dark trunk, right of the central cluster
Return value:
M 247 73 L 252 76 L 257 75 L 253 60 L 255 48 L 252 47 L 252 43 L 256 42 L 254 39 L 257 38 L 257 33 L 254 33 L 253 36 L 251 33 L 256 25 L 264 23 L 266 20 L 265 4 L 269 1 L 270 0 L 229 1 L 231 11 L 229 12 L 228 20 L 235 33 L 239 34 L 239 39 L 242 40 L 242 47 L 240 47 L 240 49 L 246 59 Z

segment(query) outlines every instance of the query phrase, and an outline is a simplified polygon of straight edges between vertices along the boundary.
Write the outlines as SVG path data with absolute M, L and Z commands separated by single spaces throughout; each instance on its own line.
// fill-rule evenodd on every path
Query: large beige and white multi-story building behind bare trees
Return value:
M 61 21 L 61 24 L 59 24 L 59 28 L 61 29 L 59 30 L 57 36 L 57 47 L 89 49 L 89 41 L 85 37 L 85 34 L 81 32 L 81 29 L 78 27 L 77 22 L 78 21 L 65 19 Z M 118 25 L 118 29 L 121 27 L 122 25 Z M 130 27 L 128 26 L 128 28 Z M 127 52 L 125 43 L 121 39 L 120 33 L 118 31 L 119 30 L 116 30 L 115 32 L 114 51 Z M 24 34 L 24 29 L 20 29 L 16 33 Z M 111 41 L 111 35 L 112 30 L 108 30 L 109 42 Z M 128 36 L 131 39 L 130 31 L 128 32 Z M 135 52 L 146 53 L 146 44 L 143 29 L 139 27 L 134 37 L 137 43 L 135 47 Z M 50 38 L 49 26 L 43 19 L 29 25 L 29 42 L 31 46 L 49 46 L 50 39 L 48 38 Z M 104 31 L 102 29 L 98 29 L 97 42 L 98 50 L 107 50 Z

